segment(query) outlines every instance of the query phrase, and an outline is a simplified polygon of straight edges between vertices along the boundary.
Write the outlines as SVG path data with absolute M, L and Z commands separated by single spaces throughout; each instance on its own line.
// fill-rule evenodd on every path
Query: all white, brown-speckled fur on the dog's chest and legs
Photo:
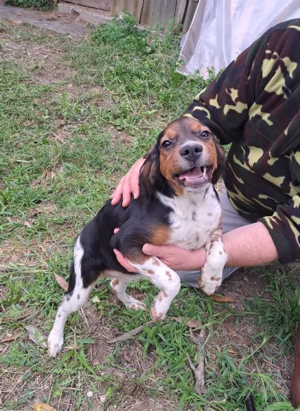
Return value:
M 185 192 L 183 196 L 168 198 L 159 193 L 157 196 L 163 204 L 172 209 L 170 213 L 172 234 L 168 243 L 189 250 L 206 247 L 207 263 L 203 267 L 200 287 L 207 294 L 212 294 L 222 281 L 222 269 L 227 258 L 222 246 L 222 233 L 218 227 L 221 208 L 213 186 L 207 185 L 198 194 Z M 72 294 L 64 296 L 58 308 L 47 343 L 51 357 L 55 357 L 62 348 L 63 329 L 67 316 L 86 303 L 93 288 L 93 284 L 88 288 L 84 288 L 82 284 L 81 261 L 83 255 L 84 250 L 80 244 L 79 236 L 75 243 L 73 255 L 75 288 Z M 157 257 L 149 257 L 141 264 L 132 263 L 132 266 L 139 270 L 140 275 L 135 274 L 132 277 L 122 272 L 106 270 L 102 277 L 113 277 L 111 287 L 115 295 L 126 307 L 131 309 L 145 309 L 146 306 L 141 301 L 126 294 L 126 286 L 131 280 L 141 279 L 141 277 L 150 280 L 160 290 L 152 303 L 152 319 L 163 319 L 172 300 L 180 290 L 181 283 L 178 274 L 165 266 Z

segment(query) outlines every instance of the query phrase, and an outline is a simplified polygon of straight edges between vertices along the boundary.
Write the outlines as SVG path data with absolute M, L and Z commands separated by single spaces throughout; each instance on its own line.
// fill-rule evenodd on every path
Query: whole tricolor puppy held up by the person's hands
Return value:
M 148 279 L 159 288 L 150 309 L 152 319 L 165 317 L 181 281 L 157 257 L 144 255 L 143 244 L 175 244 L 189 250 L 205 246 L 207 261 L 198 283 L 206 294 L 216 291 L 227 261 L 220 202 L 214 189 L 223 167 L 222 148 L 199 121 L 180 117 L 159 134 L 141 169 L 139 198 L 126 208 L 121 202 L 116 206 L 106 202 L 76 239 L 69 288 L 48 338 L 51 357 L 62 348 L 67 316 L 86 303 L 98 279 L 111 277 L 113 292 L 130 309 L 146 306 L 126 294 L 128 283 Z M 119 231 L 114 234 L 116 227 Z M 139 274 L 127 272 L 113 248 L 121 251 Z

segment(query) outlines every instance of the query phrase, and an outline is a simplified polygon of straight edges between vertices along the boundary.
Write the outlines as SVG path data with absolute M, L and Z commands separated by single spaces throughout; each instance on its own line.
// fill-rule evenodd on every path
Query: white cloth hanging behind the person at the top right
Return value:
M 224 69 L 254 40 L 281 21 L 300 18 L 300 0 L 199 0 L 182 41 L 177 71 L 189 75 Z

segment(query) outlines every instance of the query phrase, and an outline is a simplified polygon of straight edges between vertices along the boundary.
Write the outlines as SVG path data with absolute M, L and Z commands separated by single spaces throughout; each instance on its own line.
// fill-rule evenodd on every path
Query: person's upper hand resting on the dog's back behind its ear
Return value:
M 129 169 L 128 173 L 119 180 L 119 184 L 111 196 L 112 205 L 116 205 L 123 196 L 122 206 L 127 207 L 130 203 L 131 193 L 135 200 L 139 197 L 139 174 L 144 162 L 145 158 L 139 158 Z

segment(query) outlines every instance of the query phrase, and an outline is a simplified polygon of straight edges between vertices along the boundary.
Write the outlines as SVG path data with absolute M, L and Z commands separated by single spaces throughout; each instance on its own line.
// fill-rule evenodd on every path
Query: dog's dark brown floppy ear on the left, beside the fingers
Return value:
M 154 185 L 160 177 L 158 145 L 154 145 L 145 157 L 146 161 L 141 168 L 141 178 L 143 179 L 143 186 L 146 192 L 151 196 L 154 191 Z

